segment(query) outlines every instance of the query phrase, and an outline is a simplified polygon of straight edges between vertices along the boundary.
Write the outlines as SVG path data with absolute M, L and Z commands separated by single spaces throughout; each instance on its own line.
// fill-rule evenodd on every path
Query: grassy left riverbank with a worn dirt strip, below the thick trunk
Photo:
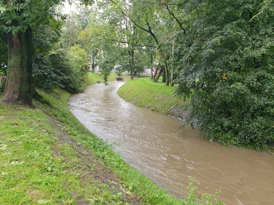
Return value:
M 34 108 L 0 104 L 1 205 L 179 204 L 71 114 L 69 93 L 37 92 Z

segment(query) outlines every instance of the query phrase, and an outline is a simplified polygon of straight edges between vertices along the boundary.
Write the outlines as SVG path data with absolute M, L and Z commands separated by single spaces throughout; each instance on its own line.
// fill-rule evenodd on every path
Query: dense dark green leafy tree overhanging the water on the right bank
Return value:
M 183 11 L 186 63 L 177 93 L 192 95 L 187 123 L 224 145 L 267 149 L 274 141 L 274 1 L 195 0 Z

